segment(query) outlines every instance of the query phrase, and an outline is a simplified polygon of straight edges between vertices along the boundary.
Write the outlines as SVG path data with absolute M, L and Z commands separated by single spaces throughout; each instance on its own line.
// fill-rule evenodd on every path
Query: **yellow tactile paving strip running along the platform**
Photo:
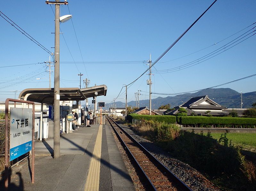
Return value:
M 93 156 L 89 166 L 89 172 L 86 180 L 85 191 L 99 190 L 100 185 L 100 160 L 101 160 L 101 138 L 102 138 L 102 125 L 99 127 L 98 135 L 96 138 Z

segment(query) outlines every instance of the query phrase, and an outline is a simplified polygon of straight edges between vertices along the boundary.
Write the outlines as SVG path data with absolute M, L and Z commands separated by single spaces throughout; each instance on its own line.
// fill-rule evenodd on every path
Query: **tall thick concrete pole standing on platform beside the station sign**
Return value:
M 46 1 L 55 4 L 55 46 L 54 46 L 54 158 L 60 158 L 60 4 L 68 2 Z

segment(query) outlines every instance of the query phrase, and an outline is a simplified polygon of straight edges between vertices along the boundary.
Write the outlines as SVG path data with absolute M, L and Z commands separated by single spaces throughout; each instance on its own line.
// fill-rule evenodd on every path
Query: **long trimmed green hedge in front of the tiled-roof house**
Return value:
M 184 116 L 177 117 L 181 125 L 212 124 L 212 125 L 256 125 L 256 118 L 241 117 L 205 117 L 205 116 Z

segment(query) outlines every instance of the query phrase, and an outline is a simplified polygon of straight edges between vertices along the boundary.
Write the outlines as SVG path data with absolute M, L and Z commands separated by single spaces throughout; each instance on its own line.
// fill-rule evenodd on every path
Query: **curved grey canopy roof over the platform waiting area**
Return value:
M 95 93 L 97 92 L 97 93 Z M 96 95 L 97 94 L 97 95 Z M 107 86 L 97 85 L 88 88 L 60 88 L 60 101 L 82 101 L 95 96 L 106 96 Z M 37 103 L 53 104 L 54 88 L 29 88 L 23 90 L 19 99 Z

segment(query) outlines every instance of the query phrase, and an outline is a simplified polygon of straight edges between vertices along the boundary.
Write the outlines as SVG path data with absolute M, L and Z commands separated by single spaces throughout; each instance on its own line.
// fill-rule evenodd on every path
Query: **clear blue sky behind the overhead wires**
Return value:
M 70 11 L 73 23 L 68 21 L 60 25 L 63 33 L 60 35 L 60 86 L 79 87 L 78 74 L 81 72 L 82 80 L 90 80 L 89 86 L 107 85 L 107 96 L 98 97 L 97 101 L 110 103 L 117 97 L 123 84 L 130 84 L 148 68 L 143 61 L 149 60 L 150 53 L 153 63 L 213 1 L 68 2 L 68 6 L 61 6 L 61 16 Z M 54 10 L 53 5 L 52 8 Z M 45 48 L 54 52 L 54 48 L 51 48 L 54 47 L 52 8 L 45 1 L 15 1 L 12 4 L 3 1 L 0 11 Z M 256 26 L 252 25 L 256 22 L 255 10 L 256 1 L 252 0 L 217 1 L 154 65 L 152 92 L 194 91 L 255 74 L 256 35 L 251 36 L 255 32 L 246 37 L 241 36 L 244 38 L 240 41 L 251 37 L 241 43 L 237 41 L 239 44 L 233 48 L 224 47 L 223 53 L 204 62 L 197 61 L 247 31 L 250 33 L 255 30 L 251 30 Z M 49 87 L 49 73 L 46 71 L 49 69 L 43 63 L 48 61 L 49 54 L 2 17 L 0 26 L 0 101 L 14 98 L 14 91 L 17 91 L 17 98 L 26 88 Z M 128 64 L 124 61 L 128 61 Z M 81 64 L 82 62 L 85 64 Z M 190 62 L 196 65 L 180 68 Z M 12 65 L 21 66 L 5 67 Z M 159 73 L 175 67 L 183 70 Z M 51 78 L 51 85 L 54 87 L 53 74 Z M 146 84 L 148 78 L 145 74 L 128 87 L 128 102 L 135 100 L 134 93 L 138 89 L 143 91 L 140 99 L 149 98 L 148 93 L 145 93 L 149 92 Z M 220 87 L 237 92 L 253 92 L 256 91 L 255 81 L 254 76 Z M 153 94 L 153 98 L 154 96 L 158 97 Z M 117 101 L 125 102 L 124 94 L 119 98 Z

